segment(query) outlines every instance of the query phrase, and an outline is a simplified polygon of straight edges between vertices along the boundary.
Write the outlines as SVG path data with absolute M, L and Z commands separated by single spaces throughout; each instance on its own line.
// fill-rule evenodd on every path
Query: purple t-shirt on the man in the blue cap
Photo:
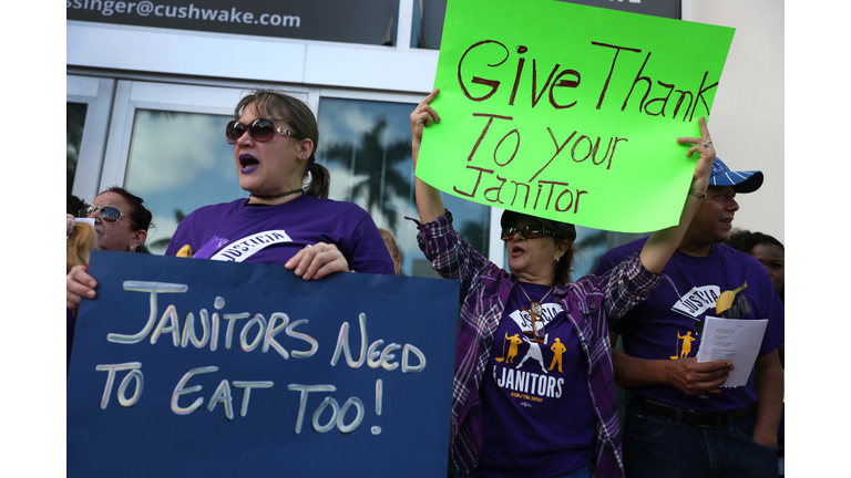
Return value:
M 602 273 L 644 247 L 647 238 L 617 247 L 601 259 L 594 273 Z M 700 347 L 698 322 L 715 316 L 715 303 L 722 291 L 748 283 L 742 292 L 750 312 L 739 319 L 768 319 L 759 355 L 773 352 L 785 342 L 785 309 L 780 295 L 762 264 L 747 253 L 726 245 L 712 246 L 707 257 L 693 257 L 679 250 L 665 266 L 663 280 L 647 300 L 609 326 L 623 337 L 624 352 L 638 358 L 677 360 L 696 356 Z M 678 291 L 678 292 L 677 292 Z M 729 412 L 757 402 L 753 371 L 748 383 L 739 387 L 721 387 L 698 396 L 686 395 L 670 385 L 629 388 L 636 395 L 668 405 L 701 412 Z

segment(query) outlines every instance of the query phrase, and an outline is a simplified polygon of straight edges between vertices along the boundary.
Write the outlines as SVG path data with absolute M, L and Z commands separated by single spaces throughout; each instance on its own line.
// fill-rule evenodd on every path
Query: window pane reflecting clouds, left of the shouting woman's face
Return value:
M 248 194 L 239 188 L 234 147 L 225 142 L 230 116 L 136 110 L 125 188 L 153 214 L 150 252 L 165 253 L 177 225 L 195 209 Z

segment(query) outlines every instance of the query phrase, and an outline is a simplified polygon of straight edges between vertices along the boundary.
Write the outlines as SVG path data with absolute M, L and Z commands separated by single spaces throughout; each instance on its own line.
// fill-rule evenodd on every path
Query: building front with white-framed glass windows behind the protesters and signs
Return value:
M 696 21 L 689 12 L 707 9 L 697 0 L 575 2 Z M 729 10 L 717 24 L 731 25 L 724 20 L 741 15 L 732 3 L 712 3 Z M 433 87 L 445 4 L 66 0 L 68 193 L 91 201 L 119 185 L 143 197 L 154 214 L 148 250 L 163 253 L 187 214 L 247 197 L 235 178 L 224 127 L 250 90 L 283 90 L 317 115 L 317 160 L 331 172 L 331 198 L 367 209 L 396 236 L 402 273 L 428 277 L 416 228 L 404 219 L 418 217 L 408 115 Z M 707 11 L 700 14 L 719 14 Z M 782 15 L 780 25 L 782 33 Z M 782 43 L 779 48 L 782 56 Z M 729 69 L 725 75 L 734 82 L 736 72 Z M 714 119 L 737 117 L 736 111 L 720 111 L 724 102 L 719 93 Z M 712 134 L 735 136 L 727 131 L 736 126 L 714 127 Z M 731 150 L 730 145 L 721 150 Z M 732 167 L 761 167 L 721 157 Z M 444 201 L 464 237 L 503 263 L 494 226 L 502 211 L 449 195 Z M 766 231 L 782 238 L 782 209 L 779 225 L 779 232 Z M 587 272 L 608 247 L 630 237 L 580 228 L 585 252 L 576 272 Z

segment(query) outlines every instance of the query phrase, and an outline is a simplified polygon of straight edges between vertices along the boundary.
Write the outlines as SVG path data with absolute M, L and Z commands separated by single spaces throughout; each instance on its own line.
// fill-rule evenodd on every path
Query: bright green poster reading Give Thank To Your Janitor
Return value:
M 679 219 L 734 29 L 553 0 L 450 0 L 417 176 L 623 232 Z M 710 123 L 711 131 L 711 123 Z

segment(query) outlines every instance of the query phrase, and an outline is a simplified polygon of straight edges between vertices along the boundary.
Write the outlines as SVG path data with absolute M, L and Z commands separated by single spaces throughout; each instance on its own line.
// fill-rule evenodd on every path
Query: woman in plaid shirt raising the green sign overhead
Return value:
M 422 133 L 440 117 L 411 113 L 413 165 Z M 715 148 L 704 118 L 699 154 L 678 226 L 605 276 L 570 282 L 573 225 L 506 210 L 502 239 L 510 273 L 453 228 L 440 191 L 419 177 L 420 249 L 443 278 L 461 281 L 452 397 L 452 459 L 469 477 L 623 476 L 608 322 L 644 300 L 706 196 Z

